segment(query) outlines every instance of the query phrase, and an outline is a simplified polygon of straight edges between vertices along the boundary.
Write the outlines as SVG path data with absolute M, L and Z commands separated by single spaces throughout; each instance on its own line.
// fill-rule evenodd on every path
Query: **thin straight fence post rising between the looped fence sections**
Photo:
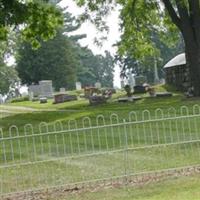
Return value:
M 125 182 L 128 183 L 128 136 L 127 136 L 127 127 L 126 120 L 123 120 L 124 124 L 124 176 Z

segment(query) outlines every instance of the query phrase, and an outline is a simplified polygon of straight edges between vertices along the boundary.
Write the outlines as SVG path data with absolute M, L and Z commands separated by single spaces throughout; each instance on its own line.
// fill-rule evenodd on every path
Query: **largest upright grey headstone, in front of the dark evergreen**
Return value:
M 40 96 L 52 98 L 53 97 L 53 87 L 51 80 L 44 80 L 39 82 L 40 85 Z

